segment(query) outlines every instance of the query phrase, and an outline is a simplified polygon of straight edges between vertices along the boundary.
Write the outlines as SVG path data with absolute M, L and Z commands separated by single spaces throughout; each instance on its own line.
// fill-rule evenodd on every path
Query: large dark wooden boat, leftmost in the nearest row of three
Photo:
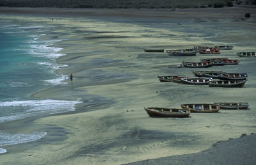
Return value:
M 151 117 L 186 118 L 190 114 L 188 108 L 144 107 L 144 109 Z

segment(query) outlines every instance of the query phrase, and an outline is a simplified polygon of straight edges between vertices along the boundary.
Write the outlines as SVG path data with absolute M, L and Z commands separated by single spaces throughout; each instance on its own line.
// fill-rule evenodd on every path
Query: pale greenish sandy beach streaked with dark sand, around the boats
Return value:
M 244 19 L 244 13 L 251 13 L 251 18 Z M 74 75 L 73 81 L 66 79 L 67 84 L 38 91 L 31 97 L 83 102 L 76 104 L 73 112 L 0 123 L 1 130 L 10 133 L 47 132 L 38 141 L 4 146 L 8 152 L 0 155 L 0 164 L 126 164 L 148 159 L 156 160 L 138 164 L 169 164 L 170 161 L 189 164 L 194 156 L 187 155 L 190 153 L 202 158 L 205 152 L 214 152 L 218 157 L 218 153 L 225 155 L 230 150 L 239 152 L 240 146 L 245 145 L 243 141 L 255 146 L 255 134 L 239 137 L 256 132 L 256 58 L 236 55 L 240 51 L 255 51 L 255 15 L 256 8 L 239 7 L 0 8 L 0 20 L 51 26 L 52 30 L 44 31 L 45 35 L 38 40 L 60 40 L 53 46 L 63 48 L 61 53 L 66 56 L 56 62 L 68 67 L 56 72 Z M 143 51 L 145 48 L 182 49 L 195 45 L 234 45 L 234 49 L 195 57 Z M 240 63 L 205 69 L 177 68 L 182 61 L 220 57 L 239 59 Z M 246 72 L 248 81 L 243 88 L 230 89 L 160 83 L 157 79 L 157 75 L 193 76 L 194 70 Z M 150 118 L 143 109 L 212 102 L 248 102 L 250 109 L 191 113 L 190 118 Z M 238 140 L 217 143 L 230 138 Z M 216 147 L 223 147 L 212 151 L 215 143 Z M 255 155 L 246 157 L 246 152 L 255 153 L 253 148 L 242 151 L 244 154 L 237 157 L 244 160 L 243 164 L 255 162 Z M 221 160 L 211 159 L 205 164 L 241 162 L 227 159 L 222 163 Z

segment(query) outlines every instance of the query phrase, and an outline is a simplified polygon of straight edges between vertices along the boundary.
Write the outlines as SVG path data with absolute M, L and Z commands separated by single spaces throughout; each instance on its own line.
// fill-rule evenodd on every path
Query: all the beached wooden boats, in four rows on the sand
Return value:
M 193 47 L 193 49 L 166 50 L 170 56 L 196 56 L 202 54 L 220 54 L 220 50 L 231 50 L 233 45 L 221 45 L 214 47 Z M 164 52 L 164 49 L 145 52 Z M 239 57 L 255 57 L 255 52 L 237 52 Z M 238 59 L 228 58 L 207 58 L 200 59 L 200 62 L 182 61 L 181 67 L 203 68 L 214 65 L 237 65 Z M 196 77 L 185 75 L 157 75 L 160 82 L 175 82 L 183 84 L 209 84 L 210 87 L 242 88 L 246 83 L 246 73 L 227 73 L 222 71 L 193 71 Z M 213 104 L 181 104 L 180 108 L 166 107 L 144 107 L 149 116 L 152 117 L 189 117 L 190 113 L 218 113 L 220 109 L 248 109 L 247 102 L 214 102 Z

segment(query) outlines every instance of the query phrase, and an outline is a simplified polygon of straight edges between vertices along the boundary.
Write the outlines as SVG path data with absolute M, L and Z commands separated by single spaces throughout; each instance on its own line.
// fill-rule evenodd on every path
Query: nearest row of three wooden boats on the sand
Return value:
M 151 117 L 189 117 L 190 113 L 218 113 L 220 109 L 248 109 L 248 102 L 214 102 L 213 104 L 181 104 L 181 108 L 144 107 Z

